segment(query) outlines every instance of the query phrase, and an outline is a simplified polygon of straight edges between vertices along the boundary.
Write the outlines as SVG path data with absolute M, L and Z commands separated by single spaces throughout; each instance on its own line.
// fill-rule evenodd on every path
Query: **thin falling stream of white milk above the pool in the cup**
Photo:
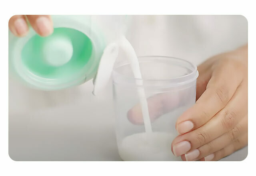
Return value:
M 127 58 L 130 61 L 130 65 L 132 68 L 132 72 L 134 74 L 134 78 L 136 79 L 142 79 L 142 75 L 140 72 L 140 66 L 138 62 L 138 58 L 136 56 L 136 53 L 130 44 L 130 42 L 123 36 L 120 39 L 120 46 L 122 46 L 122 49 L 127 55 Z M 146 99 L 146 94 L 143 85 L 142 80 L 136 80 L 136 84 L 138 85 L 138 96 L 142 108 L 142 115 L 143 115 L 143 120 L 144 120 L 144 126 L 145 126 L 145 131 L 146 133 L 151 133 L 152 132 L 152 127 L 150 123 L 150 117 L 148 113 L 148 102 Z

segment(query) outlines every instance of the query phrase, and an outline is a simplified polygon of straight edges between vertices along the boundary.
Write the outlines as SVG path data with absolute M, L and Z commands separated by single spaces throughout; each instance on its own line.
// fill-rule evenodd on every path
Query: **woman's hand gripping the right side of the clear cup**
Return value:
M 198 66 L 196 104 L 176 121 L 172 152 L 214 161 L 248 144 L 248 45 Z

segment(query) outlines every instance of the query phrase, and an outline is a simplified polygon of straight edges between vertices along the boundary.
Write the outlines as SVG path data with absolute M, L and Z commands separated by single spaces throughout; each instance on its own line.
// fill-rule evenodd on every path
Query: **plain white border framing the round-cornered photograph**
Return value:
M 231 172 L 234 172 L 236 174 L 244 174 L 246 171 L 248 171 L 248 168 L 250 166 L 250 162 L 254 159 L 254 151 L 250 150 L 249 148 L 249 154 L 246 160 L 243 162 L 190 162 L 189 164 L 186 162 L 180 162 L 180 163 L 174 163 L 174 162 L 126 162 L 126 163 L 120 163 L 120 162 L 14 162 L 12 161 L 8 156 L 8 95 L 6 92 L 8 92 L 8 70 L 7 70 L 7 58 L 8 58 L 8 35 L 7 35 L 7 27 L 8 26 L 8 19 L 13 14 L 26 14 L 30 12 L 30 14 L 66 14 L 66 13 L 73 13 L 77 14 L 107 14 L 111 12 L 111 14 L 114 14 L 115 12 L 117 14 L 125 13 L 125 14 L 242 14 L 244 15 L 249 22 L 249 146 L 254 146 L 254 141 L 252 141 L 252 136 L 255 134 L 252 129 L 252 125 L 255 123 L 254 114 L 252 114 L 252 98 L 254 98 L 254 92 L 251 90 L 255 90 L 254 85 L 251 84 L 252 76 L 254 76 L 252 73 L 252 58 L 255 58 L 255 54 L 252 53 L 254 46 L 252 42 L 255 39 L 255 26 L 253 22 L 255 21 L 255 18 L 253 18 L 253 10 L 252 4 L 246 4 L 246 1 L 227 1 L 225 4 L 223 1 L 221 4 L 217 3 L 217 1 L 214 1 L 210 3 L 209 1 L 189 1 L 189 2 L 182 2 L 179 1 L 179 4 L 176 3 L 170 3 L 164 5 L 160 1 L 155 2 L 152 5 L 149 5 L 148 2 L 144 2 L 143 5 L 139 6 L 138 2 L 136 5 L 128 5 L 121 3 L 124 7 L 117 8 L 117 5 L 115 3 L 110 3 L 110 1 L 103 2 L 103 3 L 97 3 L 95 2 L 94 5 L 90 5 L 90 8 L 88 8 L 88 4 L 84 2 L 82 5 L 78 5 L 72 1 L 73 8 L 71 8 L 70 4 L 66 5 L 66 8 L 64 8 L 64 4 L 62 5 L 62 8 L 56 8 L 54 7 L 53 2 L 41 2 L 36 4 L 25 3 L 24 1 L 18 2 L 20 4 L 10 2 L 10 4 L 6 4 L 6 7 L 4 10 L 2 10 L 3 14 L 1 16 L 1 22 L 2 22 L 2 28 L 1 28 L 1 34 L 2 34 L 2 51 L 3 51 L 3 65 L 1 70 L 2 75 L 2 91 L 3 94 L 2 97 L 2 107 L 3 107 L 3 115 L 2 115 L 2 121 L 1 122 L 1 135 L 2 135 L 2 141 L 3 144 L 1 145 L 1 159 L 3 160 L 3 168 L 2 171 L 6 171 L 9 174 L 19 174 L 22 175 L 30 175 L 32 173 L 36 175 L 40 175 L 42 173 L 55 173 L 62 175 L 70 175 L 74 173 L 82 173 L 82 172 L 102 172 L 106 173 L 114 172 L 117 173 L 125 172 L 126 174 L 134 174 L 134 173 L 144 173 L 143 169 L 150 168 L 151 174 L 160 174 L 161 172 L 171 174 L 185 174 L 187 172 L 188 174 L 208 174 L 212 175 L 214 172 L 218 171 L 220 174 L 221 172 L 226 172 L 227 174 L 230 174 Z M 34 2 L 35 3 L 35 2 Z M 105 4 L 104 4 L 105 3 Z M 15 4 L 15 7 L 14 7 Z M 24 5 L 26 4 L 26 5 Z M 22 7 L 24 6 L 24 8 Z M 60 4 L 56 3 L 56 6 L 59 7 Z M 107 8 L 106 6 L 110 5 L 112 8 Z M 31 8 L 34 7 L 34 8 Z M 38 7 L 38 8 L 37 8 Z M 117 9 L 116 9 L 117 8 Z M 57 12 L 56 9 L 59 11 Z M 73 11 L 70 9 L 74 9 Z M 144 9 L 145 11 L 142 11 Z M 159 9 L 159 10 L 157 10 Z M 117 11 L 115 11 L 117 10 Z M 130 10 L 130 11 L 129 11 Z M 132 10 L 132 12 L 131 12 Z M 154 11 L 156 10 L 156 11 Z M 16 12 L 16 13 L 14 13 Z M 251 22 L 251 23 L 250 23 Z M 250 52 L 251 51 L 251 52 Z M 196 164 L 196 165 L 194 165 Z M 150 167 L 151 166 L 151 167 Z M 154 166 L 154 167 L 152 167 Z M 47 168 L 47 169 L 46 169 Z M 131 169 L 132 168 L 132 169 Z M 174 169 L 175 168 L 175 169 Z M 185 169 L 186 168 L 186 169 Z M 217 168 L 217 169 L 216 169 Z M 166 170 L 165 170 L 166 169 Z M 38 174 L 39 171 L 39 174 Z M 30 173 L 30 174 L 29 174 Z M 5 174 L 7 175 L 7 174 Z

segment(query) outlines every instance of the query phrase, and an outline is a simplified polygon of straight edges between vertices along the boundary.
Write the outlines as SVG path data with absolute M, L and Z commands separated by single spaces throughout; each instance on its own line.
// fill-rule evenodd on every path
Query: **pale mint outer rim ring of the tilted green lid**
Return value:
M 12 46 L 11 46 L 11 54 L 9 55 L 9 60 L 11 61 L 14 72 L 18 75 L 20 80 L 22 82 L 25 82 L 30 87 L 40 89 L 40 90 L 59 90 L 63 88 L 68 88 L 70 86 L 81 84 L 82 80 L 83 82 L 86 82 L 89 79 L 94 78 L 94 75 L 97 72 L 98 68 L 98 60 L 100 59 L 102 55 L 102 51 L 105 47 L 104 42 L 104 36 L 100 34 L 100 30 L 96 27 L 94 27 L 95 31 L 92 31 L 90 28 L 90 24 L 85 24 L 80 22 L 79 20 L 74 20 L 72 18 L 62 18 L 62 17 L 56 17 L 56 19 L 53 17 L 54 20 L 54 28 L 72 28 L 75 30 L 78 30 L 88 36 L 88 38 L 92 42 L 92 55 L 90 56 L 90 63 L 92 66 L 90 66 L 90 69 L 86 72 L 88 74 L 84 74 L 84 68 L 76 74 L 76 79 L 70 79 L 68 78 L 67 81 L 61 78 L 44 78 L 41 76 L 38 76 L 36 74 L 33 74 L 30 72 L 30 70 L 26 70 L 24 68 L 23 64 L 21 63 L 21 57 L 20 53 L 22 48 L 25 46 L 26 42 L 32 38 L 32 36 L 36 35 L 36 32 L 34 30 L 30 30 L 29 34 L 25 38 L 17 38 L 14 37 L 12 40 Z M 72 26 L 70 26 L 70 23 L 72 22 Z M 17 46 L 18 45 L 18 46 Z M 9 48 L 10 50 L 10 48 Z M 95 58 L 95 59 L 92 59 Z M 88 62 L 89 63 L 89 62 Z M 28 73 L 30 72 L 30 73 Z M 77 82 L 77 84 L 76 84 Z

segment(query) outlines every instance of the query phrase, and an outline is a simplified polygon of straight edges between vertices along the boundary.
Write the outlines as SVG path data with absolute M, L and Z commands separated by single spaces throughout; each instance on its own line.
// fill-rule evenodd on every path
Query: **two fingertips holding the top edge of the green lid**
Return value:
M 28 33 L 26 18 L 40 36 L 52 34 L 53 24 L 50 15 L 14 15 L 9 20 L 9 29 L 15 36 L 23 37 Z

